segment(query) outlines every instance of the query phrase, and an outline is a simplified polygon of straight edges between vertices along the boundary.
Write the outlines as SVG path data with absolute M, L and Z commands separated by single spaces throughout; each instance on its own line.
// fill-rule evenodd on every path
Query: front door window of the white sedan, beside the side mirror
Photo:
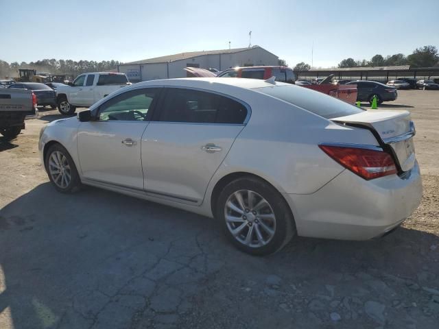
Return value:
M 131 90 L 99 107 L 99 121 L 150 121 L 150 108 L 158 95 L 157 88 Z

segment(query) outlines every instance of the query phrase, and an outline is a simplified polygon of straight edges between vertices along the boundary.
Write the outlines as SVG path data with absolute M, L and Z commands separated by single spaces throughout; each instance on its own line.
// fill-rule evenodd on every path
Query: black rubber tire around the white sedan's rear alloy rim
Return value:
M 261 235 L 262 232 L 265 234 L 265 236 L 270 236 L 267 230 L 262 230 L 262 223 L 259 222 L 262 221 L 262 219 L 259 218 L 258 221 L 258 216 L 263 216 L 263 208 L 260 208 L 257 214 L 255 212 L 251 220 L 246 218 L 246 216 L 244 215 L 247 215 L 248 217 L 248 215 L 251 215 L 252 210 L 246 209 L 243 213 L 244 215 L 239 215 L 237 213 L 237 216 L 241 216 L 241 222 L 239 224 L 230 222 L 228 224 L 228 222 L 226 221 L 226 213 L 229 211 L 228 208 L 226 208 L 226 203 L 228 202 L 228 200 L 230 200 L 230 198 L 233 198 L 233 195 L 235 195 L 235 193 L 244 193 L 245 195 L 245 193 L 247 193 L 246 190 L 252 191 L 252 195 L 254 195 L 254 198 L 256 200 L 255 202 L 257 202 L 258 197 L 262 197 L 263 199 L 265 199 L 265 201 L 268 202 L 269 205 L 265 209 L 268 209 L 268 211 L 271 212 L 270 216 L 271 214 L 273 214 L 275 217 L 274 221 L 265 221 L 264 219 L 264 226 L 272 225 L 270 229 L 273 229 L 274 226 L 274 230 L 272 230 L 274 234 L 272 234 L 272 237 L 270 239 L 267 239 L 266 244 L 251 246 L 239 241 L 239 239 L 241 239 L 241 236 L 246 235 L 248 237 L 248 233 L 251 232 L 250 236 L 252 237 L 250 237 L 250 241 L 254 241 L 253 238 L 255 238 L 259 242 L 256 230 L 259 231 L 259 235 Z M 259 199 L 259 201 L 260 200 L 261 199 Z M 248 199 L 243 199 L 243 202 L 244 204 L 248 204 Z M 230 215 L 230 213 L 228 213 L 228 215 Z M 296 234 L 296 224 L 294 222 L 294 217 L 292 216 L 292 212 L 287 202 L 285 202 L 285 199 L 283 199 L 281 193 L 279 193 L 276 188 L 274 188 L 267 182 L 259 180 L 258 178 L 253 178 L 251 176 L 238 178 L 237 180 L 230 182 L 226 185 L 226 187 L 223 188 L 217 200 L 215 217 L 219 221 L 221 221 L 224 232 L 228 239 L 233 243 L 233 245 L 235 245 L 235 247 L 237 247 L 237 249 L 241 250 L 242 252 L 246 252 L 247 254 L 251 254 L 254 256 L 265 256 L 277 252 L 278 250 L 282 249 L 282 247 L 284 247 Z M 244 219 L 246 219 L 246 221 L 244 221 Z M 235 237 L 235 235 L 232 234 L 232 232 L 230 232 L 230 230 L 233 228 L 237 228 L 238 226 L 243 227 L 243 229 L 239 231 L 239 234 L 236 234 L 237 236 L 239 236 L 237 238 Z M 254 230 L 252 231 L 250 231 L 251 226 L 255 226 Z M 258 227 L 258 229 L 256 226 Z

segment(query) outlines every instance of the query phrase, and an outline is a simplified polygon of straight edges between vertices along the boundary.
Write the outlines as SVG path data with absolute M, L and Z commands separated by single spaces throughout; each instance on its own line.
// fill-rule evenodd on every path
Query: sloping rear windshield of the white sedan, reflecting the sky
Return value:
M 353 106 L 346 101 L 340 101 L 340 99 L 300 86 L 283 85 L 254 88 L 253 90 L 300 106 L 300 108 L 305 108 L 305 110 L 318 114 L 320 117 L 326 119 L 363 112 L 363 110 L 357 108 L 357 106 Z

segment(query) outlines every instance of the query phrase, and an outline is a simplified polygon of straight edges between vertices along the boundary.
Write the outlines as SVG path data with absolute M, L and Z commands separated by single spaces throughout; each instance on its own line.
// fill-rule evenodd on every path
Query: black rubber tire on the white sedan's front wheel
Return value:
M 51 169 L 53 169 L 54 167 L 52 166 L 51 163 L 49 163 L 49 160 L 51 160 L 51 155 L 54 154 L 55 152 L 59 152 L 60 154 L 62 154 L 62 156 L 65 157 L 65 161 L 63 160 L 62 162 L 64 164 L 66 164 L 66 162 L 67 162 L 67 164 L 69 166 L 70 180 L 69 180 L 69 184 L 67 184 L 64 187 L 60 186 L 59 180 L 57 180 L 57 182 L 56 182 L 54 177 L 52 177 L 52 175 L 51 175 Z M 73 162 L 73 159 L 71 158 L 69 152 L 67 151 L 67 149 L 62 147 L 62 145 L 60 145 L 60 144 L 52 145 L 49 148 L 49 150 L 47 150 L 47 154 L 46 154 L 44 163 L 45 163 L 47 175 L 49 176 L 49 180 L 54 185 L 54 187 L 56 188 L 56 190 L 58 192 L 75 193 L 75 192 L 80 190 L 81 180 L 80 180 L 80 176 L 78 175 L 78 170 L 76 169 L 75 162 Z M 60 178 L 60 180 L 62 180 L 62 178 Z

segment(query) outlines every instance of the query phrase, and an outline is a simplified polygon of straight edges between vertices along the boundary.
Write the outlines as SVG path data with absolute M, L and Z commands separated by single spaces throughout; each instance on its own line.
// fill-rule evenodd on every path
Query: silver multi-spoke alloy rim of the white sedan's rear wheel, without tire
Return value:
M 248 247 L 262 247 L 276 232 L 276 216 L 272 206 L 261 195 L 239 190 L 230 195 L 224 206 L 228 230 Z

